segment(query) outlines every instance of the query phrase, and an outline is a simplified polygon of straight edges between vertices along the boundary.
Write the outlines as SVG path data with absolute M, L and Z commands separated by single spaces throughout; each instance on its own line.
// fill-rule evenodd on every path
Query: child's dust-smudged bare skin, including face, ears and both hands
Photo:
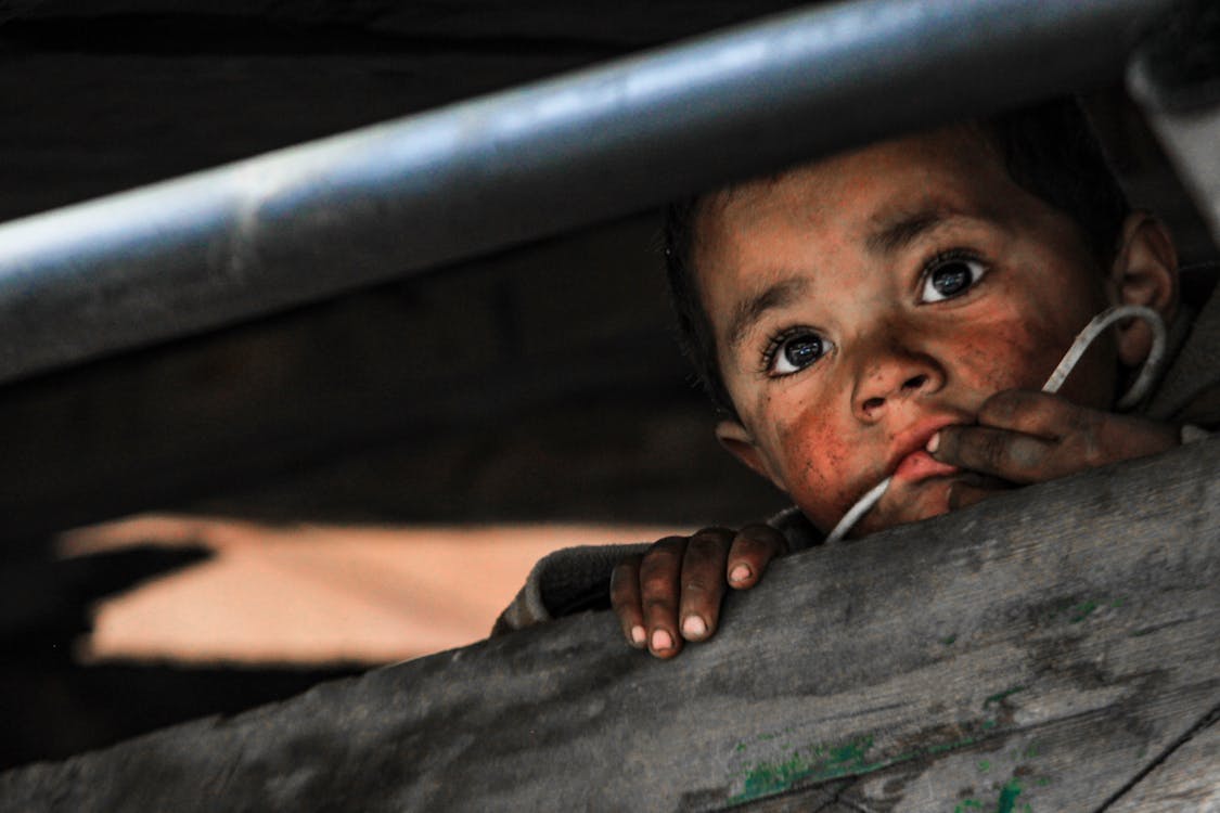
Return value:
M 884 478 L 853 535 L 1179 442 L 1176 427 L 1113 411 L 1152 346 L 1143 321 L 1094 341 L 1058 395 L 1038 391 L 1109 306 L 1172 322 L 1168 233 L 1132 213 L 1103 262 L 974 128 L 709 195 L 694 238 L 737 411 L 716 434 L 824 533 Z M 710 637 L 726 586 L 758 584 L 784 547 L 766 525 L 660 540 L 615 569 L 625 637 L 661 658 Z

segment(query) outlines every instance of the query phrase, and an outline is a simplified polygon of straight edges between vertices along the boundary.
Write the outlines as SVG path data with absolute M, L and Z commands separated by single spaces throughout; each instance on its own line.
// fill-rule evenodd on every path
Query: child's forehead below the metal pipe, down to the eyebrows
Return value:
M 864 295 L 886 278 L 894 251 L 944 229 L 1049 246 L 1075 225 L 1013 182 L 992 144 L 967 127 L 886 141 L 705 200 L 694 268 L 717 355 L 761 312 L 815 289 Z

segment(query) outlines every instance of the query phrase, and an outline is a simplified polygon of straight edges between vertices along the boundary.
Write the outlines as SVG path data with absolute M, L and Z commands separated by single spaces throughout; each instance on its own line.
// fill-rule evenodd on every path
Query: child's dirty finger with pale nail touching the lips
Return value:
M 932 457 L 950 466 L 1013 483 L 1055 477 L 1049 470 L 1057 447 L 1053 440 L 991 427 L 946 427 L 933 440 Z

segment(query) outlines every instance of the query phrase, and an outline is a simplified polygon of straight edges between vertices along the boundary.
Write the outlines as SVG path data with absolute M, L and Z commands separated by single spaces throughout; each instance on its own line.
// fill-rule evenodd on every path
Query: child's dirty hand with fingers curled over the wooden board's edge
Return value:
M 769 525 L 669 536 L 614 569 L 610 602 L 632 646 L 671 658 L 683 639 L 702 641 L 716 631 L 726 581 L 737 590 L 753 588 L 787 550 L 783 534 Z

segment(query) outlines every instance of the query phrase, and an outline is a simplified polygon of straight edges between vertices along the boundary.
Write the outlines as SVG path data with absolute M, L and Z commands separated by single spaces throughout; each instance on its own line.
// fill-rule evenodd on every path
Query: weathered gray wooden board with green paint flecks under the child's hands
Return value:
M 0 808 L 1185 809 L 1220 787 L 1218 452 L 789 558 L 675 662 L 571 618 L 10 772 Z

